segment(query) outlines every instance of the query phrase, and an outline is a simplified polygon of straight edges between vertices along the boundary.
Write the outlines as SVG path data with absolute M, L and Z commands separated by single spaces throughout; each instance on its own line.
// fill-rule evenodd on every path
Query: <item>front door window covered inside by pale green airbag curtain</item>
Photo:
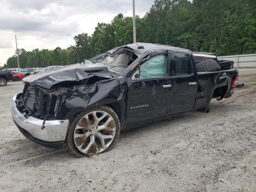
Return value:
M 168 54 L 152 57 L 140 66 L 140 80 L 169 76 Z

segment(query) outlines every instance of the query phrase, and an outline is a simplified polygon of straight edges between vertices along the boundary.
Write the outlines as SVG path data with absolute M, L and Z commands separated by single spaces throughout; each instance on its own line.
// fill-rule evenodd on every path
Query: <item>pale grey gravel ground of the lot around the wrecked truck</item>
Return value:
M 256 70 L 241 70 L 240 82 L 210 113 L 123 132 L 110 152 L 90 158 L 26 139 L 9 110 L 23 85 L 9 82 L 0 88 L 0 191 L 255 192 Z

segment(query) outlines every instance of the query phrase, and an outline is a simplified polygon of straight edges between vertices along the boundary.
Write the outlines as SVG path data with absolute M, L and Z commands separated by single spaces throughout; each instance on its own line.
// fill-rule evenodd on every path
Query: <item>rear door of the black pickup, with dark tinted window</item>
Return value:
M 174 90 L 172 95 L 172 114 L 192 110 L 198 90 L 198 77 L 194 72 L 193 58 L 190 54 L 173 52 Z

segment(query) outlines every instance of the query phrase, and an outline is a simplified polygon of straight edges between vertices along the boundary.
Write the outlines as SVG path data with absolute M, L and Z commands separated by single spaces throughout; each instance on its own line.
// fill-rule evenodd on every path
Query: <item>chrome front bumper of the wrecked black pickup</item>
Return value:
M 45 121 L 44 129 L 42 124 L 44 120 L 34 118 L 32 116 L 25 118 L 18 110 L 15 100 L 17 94 L 12 98 L 10 102 L 10 109 L 12 112 L 12 118 L 22 129 L 29 132 L 29 134 L 35 139 L 42 140 L 44 142 L 59 142 L 64 141 L 66 138 L 69 120 L 50 120 Z

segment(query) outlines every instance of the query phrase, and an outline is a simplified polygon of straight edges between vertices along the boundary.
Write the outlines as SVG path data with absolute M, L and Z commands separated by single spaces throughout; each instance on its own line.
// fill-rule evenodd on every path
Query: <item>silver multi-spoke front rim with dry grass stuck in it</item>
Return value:
M 76 148 L 84 154 L 98 154 L 106 150 L 116 134 L 114 118 L 96 110 L 83 116 L 74 129 Z

